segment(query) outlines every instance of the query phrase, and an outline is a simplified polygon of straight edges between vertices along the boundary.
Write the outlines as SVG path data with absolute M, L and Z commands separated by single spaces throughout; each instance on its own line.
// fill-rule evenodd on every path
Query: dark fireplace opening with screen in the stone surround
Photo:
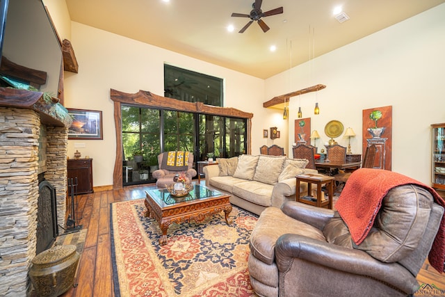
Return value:
M 39 183 L 37 204 L 36 255 L 51 248 L 58 236 L 56 188 L 44 179 Z

